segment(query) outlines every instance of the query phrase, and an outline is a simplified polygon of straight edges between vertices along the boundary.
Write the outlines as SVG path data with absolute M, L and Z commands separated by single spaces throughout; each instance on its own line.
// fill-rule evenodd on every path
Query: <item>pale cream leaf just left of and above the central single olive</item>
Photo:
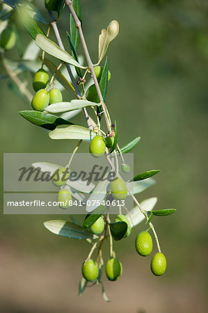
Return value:
M 51 139 L 78 139 L 83 141 L 91 141 L 96 135 L 95 131 L 78 125 L 58 126 L 49 133 Z

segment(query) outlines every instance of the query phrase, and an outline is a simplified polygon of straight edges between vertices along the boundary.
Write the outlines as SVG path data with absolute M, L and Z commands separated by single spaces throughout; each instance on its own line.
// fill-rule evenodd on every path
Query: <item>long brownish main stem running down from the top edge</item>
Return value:
M 107 129 L 108 129 L 109 134 L 110 134 L 110 132 L 111 132 L 111 120 L 109 119 L 109 114 L 107 113 L 107 108 L 106 108 L 106 105 L 104 104 L 104 99 L 102 97 L 102 93 L 101 93 L 101 90 L 99 88 L 99 83 L 98 83 L 97 77 L 95 75 L 94 65 L 93 65 L 93 62 L 91 61 L 90 54 L 88 52 L 88 47 L 86 45 L 86 40 L 85 40 L 85 38 L 83 36 L 83 31 L 81 29 L 81 22 L 79 20 L 79 17 L 77 16 L 76 12 L 74 11 L 74 8 L 72 6 L 72 1 L 65 0 L 65 5 L 69 8 L 70 13 L 72 14 L 72 17 L 73 17 L 74 22 L 76 24 L 76 27 L 77 27 L 77 29 L 79 31 L 81 44 L 82 44 L 83 51 L 84 51 L 84 54 L 86 56 L 86 60 L 87 60 L 87 63 L 88 63 L 88 69 L 90 70 L 91 76 L 93 77 L 93 81 L 95 83 L 95 88 L 97 90 L 97 94 L 98 94 L 99 100 L 101 102 L 102 109 L 104 111 L 104 118 L 106 120 L 106 126 L 107 126 Z

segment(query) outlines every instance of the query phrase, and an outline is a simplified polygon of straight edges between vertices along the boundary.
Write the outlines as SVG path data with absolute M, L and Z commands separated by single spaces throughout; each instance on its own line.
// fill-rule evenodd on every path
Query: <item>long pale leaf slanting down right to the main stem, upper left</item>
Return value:
M 47 38 L 45 35 L 37 35 L 35 38 L 35 43 L 40 49 L 47 52 L 47 54 L 54 56 L 54 58 L 58 58 L 59 60 L 71 65 L 86 69 L 86 67 L 83 67 L 77 61 L 75 61 L 74 58 L 72 58 L 72 56 L 67 53 L 67 51 L 58 47 L 55 42 L 49 40 L 49 38 Z

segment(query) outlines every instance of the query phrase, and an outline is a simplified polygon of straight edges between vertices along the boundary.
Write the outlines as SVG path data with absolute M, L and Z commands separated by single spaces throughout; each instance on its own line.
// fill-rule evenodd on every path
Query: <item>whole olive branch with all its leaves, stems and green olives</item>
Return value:
M 106 262 L 106 277 L 118 280 L 122 274 L 122 265 L 116 259 L 113 241 L 125 240 L 131 234 L 131 228 L 136 227 L 145 220 L 147 229 L 136 237 L 136 252 L 139 255 L 150 255 L 152 252 L 152 232 L 156 245 L 157 255 L 151 262 L 151 270 L 154 275 L 161 275 L 166 270 L 166 258 L 161 253 L 159 239 L 152 223 L 154 216 L 167 216 L 173 214 L 175 209 L 153 210 L 157 198 L 149 198 L 138 202 L 136 195 L 145 188 L 155 183 L 150 178 L 159 170 L 147 170 L 134 175 L 128 182 L 122 179 L 121 172 L 129 172 L 129 165 L 125 162 L 125 154 L 133 150 L 139 143 L 140 137 L 131 138 L 124 147 L 119 146 L 118 129 L 119 120 L 111 120 L 111 114 L 106 101 L 108 84 L 111 79 L 109 60 L 106 52 L 110 49 L 111 42 L 119 33 L 119 23 L 113 20 L 102 29 L 97 40 L 98 56 L 93 63 L 81 24 L 80 0 L 45 0 L 47 19 L 42 16 L 35 1 L 1 1 L 1 79 L 9 79 L 10 88 L 15 90 L 17 96 L 29 102 L 28 111 L 20 111 L 19 114 L 38 127 L 50 132 L 46 134 L 56 145 L 55 140 L 75 140 L 72 157 L 66 165 L 56 165 L 46 162 L 33 163 L 34 168 L 40 168 L 42 172 L 51 170 L 58 175 L 54 184 L 59 188 L 58 200 L 66 200 L 61 209 L 70 207 L 70 203 L 79 197 L 89 200 L 86 202 L 86 214 L 83 216 L 83 224 L 79 225 L 74 216 L 70 220 L 49 220 L 44 223 L 47 230 L 58 236 L 83 239 L 90 246 L 90 252 L 82 265 L 82 274 L 79 284 L 81 295 L 90 282 L 100 284 L 102 295 L 109 301 L 104 291 L 103 268 L 104 259 L 102 246 L 109 241 L 109 260 Z M 63 10 L 68 11 L 69 20 L 65 23 L 65 31 L 68 40 L 67 47 L 58 30 L 58 22 Z M 89 17 L 90 18 L 90 17 Z M 28 45 L 23 49 L 19 29 L 24 27 L 28 36 Z M 51 40 L 54 33 L 56 40 Z M 96 42 L 96 40 L 95 40 Z M 82 55 L 77 54 L 81 46 Z M 8 57 L 7 51 L 17 49 L 19 60 L 13 61 Z M 31 72 L 34 75 L 33 88 L 36 93 L 31 94 L 25 81 L 19 78 L 22 73 Z M 50 77 L 49 77 L 50 75 Z M 63 102 L 61 91 L 67 90 L 73 97 L 70 102 Z M 111 104 L 113 105 L 113 104 Z M 83 113 L 83 124 L 74 125 L 73 118 Z M 119 127 L 120 134 L 122 129 Z M 73 158 L 76 158 L 80 145 L 88 141 L 90 153 L 94 157 L 104 155 L 115 171 L 116 177 L 111 184 L 99 182 L 97 185 L 76 185 L 74 191 L 68 176 L 63 178 L 66 169 L 70 170 Z M 118 166 L 118 156 L 122 159 L 122 166 Z M 129 190 L 133 186 L 134 191 Z M 109 197 L 109 204 L 105 199 Z M 124 200 L 126 197 L 134 200 L 134 209 L 126 208 L 125 214 L 118 214 L 115 220 L 111 220 L 111 207 L 113 201 Z M 94 201 L 94 202 L 93 202 Z M 93 204 L 92 204 L 93 203 Z M 74 204 L 76 205 L 76 204 Z M 95 255 L 94 259 L 93 257 Z

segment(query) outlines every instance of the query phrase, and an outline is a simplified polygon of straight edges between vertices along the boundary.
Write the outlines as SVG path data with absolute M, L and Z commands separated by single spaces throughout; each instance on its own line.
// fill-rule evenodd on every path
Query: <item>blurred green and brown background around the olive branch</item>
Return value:
M 35 1 L 47 17 L 43 1 Z M 157 196 L 157 208 L 177 208 L 173 216 L 154 218 L 168 260 L 166 274 L 150 273 L 151 257 L 134 250 L 140 224 L 116 242 L 123 264 L 118 282 L 77 296 L 81 264 L 88 244 L 49 233 L 42 223 L 53 216 L 0 219 L 0 312 L 206 312 L 207 302 L 207 103 L 208 3 L 205 0 L 81 0 L 83 30 L 93 61 L 98 35 L 117 19 L 120 33 L 107 56 L 111 70 L 106 104 L 116 118 L 120 145 L 141 136 L 134 150 L 135 173 L 160 168 L 157 184 L 138 200 Z M 58 27 L 65 46 L 69 13 Z M 24 47 L 31 38 L 22 31 Z M 81 47 L 79 54 L 81 54 Z M 8 51 L 17 59 L 17 51 Z M 29 77 L 29 89 L 32 76 Z M 30 109 L 1 81 L 2 152 L 71 152 L 72 141 L 52 141 L 18 114 Z M 71 99 L 65 92 L 64 99 Z M 83 116 L 74 119 L 84 125 Z M 88 150 L 84 144 L 81 151 Z M 1 154 L 3 160 L 3 153 Z M 3 177 L 3 161 L 1 163 Z M 12 179 L 12 177 L 11 177 Z M 1 179 L 1 207 L 3 179 Z M 58 218 L 58 216 L 54 216 Z M 62 216 L 63 217 L 63 216 Z

